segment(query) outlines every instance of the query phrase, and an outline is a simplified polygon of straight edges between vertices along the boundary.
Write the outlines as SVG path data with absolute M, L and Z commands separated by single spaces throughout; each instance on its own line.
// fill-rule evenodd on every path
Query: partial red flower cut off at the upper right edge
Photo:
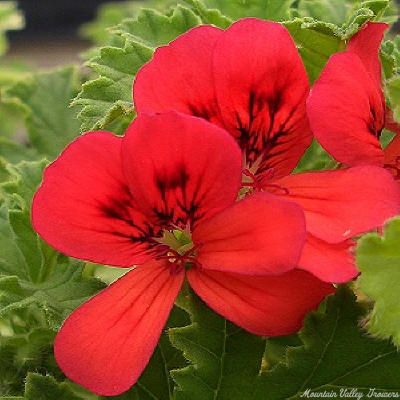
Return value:
M 384 127 L 400 133 L 382 89 L 379 47 L 387 27 L 366 23 L 346 51 L 331 56 L 314 84 L 307 111 L 317 140 L 339 162 L 387 164 L 396 176 L 399 139 L 389 145 L 388 155 L 379 143 Z

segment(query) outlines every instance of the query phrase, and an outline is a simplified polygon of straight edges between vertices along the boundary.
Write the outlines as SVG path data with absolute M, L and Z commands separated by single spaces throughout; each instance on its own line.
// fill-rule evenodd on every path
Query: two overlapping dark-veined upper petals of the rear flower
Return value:
M 308 90 L 288 31 L 245 18 L 226 31 L 194 28 L 157 50 L 138 72 L 134 102 L 139 114 L 176 110 L 224 127 L 250 164 L 261 156 L 262 170 L 274 168 L 280 176 L 311 142 Z

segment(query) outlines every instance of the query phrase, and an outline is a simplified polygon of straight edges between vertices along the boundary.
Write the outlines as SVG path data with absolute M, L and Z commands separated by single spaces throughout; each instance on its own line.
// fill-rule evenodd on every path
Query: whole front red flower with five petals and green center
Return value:
M 139 265 L 65 321 L 55 355 L 101 395 L 136 382 L 186 276 L 215 311 L 250 332 L 296 331 L 332 286 L 293 269 L 301 208 L 267 193 L 236 202 L 241 154 L 223 129 L 174 112 L 141 115 L 124 137 L 87 133 L 45 171 L 32 209 L 61 252 Z

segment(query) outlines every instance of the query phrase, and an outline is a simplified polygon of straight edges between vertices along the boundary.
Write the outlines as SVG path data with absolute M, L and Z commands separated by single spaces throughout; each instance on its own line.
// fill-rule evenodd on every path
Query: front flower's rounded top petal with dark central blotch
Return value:
M 162 226 L 210 217 L 235 201 L 241 185 L 240 149 L 230 135 L 175 112 L 136 118 L 122 159 L 136 204 Z

